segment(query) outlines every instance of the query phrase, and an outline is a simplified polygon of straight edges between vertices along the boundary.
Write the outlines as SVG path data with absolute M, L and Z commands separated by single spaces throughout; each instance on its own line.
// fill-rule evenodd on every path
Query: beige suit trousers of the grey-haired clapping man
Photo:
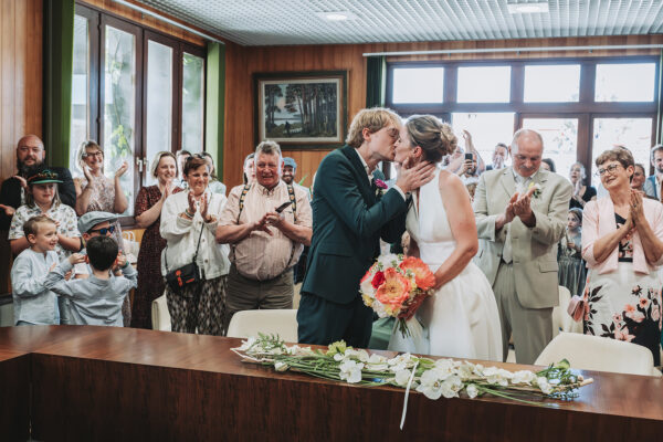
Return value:
M 508 339 L 514 333 L 516 360 L 534 364 L 543 349 L 552 339 L 552 307 L 525 308 L 516 294 L 516 280 L 512 263 L 499 262 L 493 284 L 499 322 L 502 323 L 503 360 L 508 354 Z

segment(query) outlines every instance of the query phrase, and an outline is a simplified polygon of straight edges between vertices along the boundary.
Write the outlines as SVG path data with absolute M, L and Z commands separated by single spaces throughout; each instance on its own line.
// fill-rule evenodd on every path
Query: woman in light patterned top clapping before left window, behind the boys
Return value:
M 104 175 L 104 150 L 95 141 L 87 140 L 78 147 L 76 165 L 83 172 L 83 177 L 74 178 L 78 217 L 93 211 L 124 213 L 127 210 L 129 204 L 119 185 L 119 178 L 129 168 L 126 161 L 115 171 L 113 179 L 106 177 Z M 113 225 L 115 231 L 112 238 L 117 241 L 117 246 L 124 252 L 119 222 L 114 221 Z M 128 324 L 125 325 L 128 326 Z

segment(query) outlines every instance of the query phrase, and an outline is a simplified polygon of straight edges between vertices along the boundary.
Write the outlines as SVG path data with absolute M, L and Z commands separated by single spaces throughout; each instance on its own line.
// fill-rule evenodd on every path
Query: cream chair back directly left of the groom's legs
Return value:
M 265 335 L 278 335 L 286 343 L 297 341 L 297 311 L 243 311 L 238 312 L 230 319 L 228 337 L 248 338 Z

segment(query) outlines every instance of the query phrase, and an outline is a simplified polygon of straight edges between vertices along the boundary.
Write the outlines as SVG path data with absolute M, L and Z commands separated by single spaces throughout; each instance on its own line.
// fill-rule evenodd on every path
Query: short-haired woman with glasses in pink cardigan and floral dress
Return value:
M 585 333 L 648 347 L 661 365 L 663 204 L 631 190 L 633 156 L 615 148 L 596 161 L 609 196 L 585 206 Z

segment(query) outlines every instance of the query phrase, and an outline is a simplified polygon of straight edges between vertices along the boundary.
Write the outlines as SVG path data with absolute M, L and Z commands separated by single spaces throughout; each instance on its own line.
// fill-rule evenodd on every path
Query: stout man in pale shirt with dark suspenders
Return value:
M 292 308 L 293 266 L 311 244 L 308 196 L 282 179 L 281 147 L 255 150 L 255 180 L 233 188 L 219 219 L 217 242 L 231 245 L 224 329 L 240 311 Z

